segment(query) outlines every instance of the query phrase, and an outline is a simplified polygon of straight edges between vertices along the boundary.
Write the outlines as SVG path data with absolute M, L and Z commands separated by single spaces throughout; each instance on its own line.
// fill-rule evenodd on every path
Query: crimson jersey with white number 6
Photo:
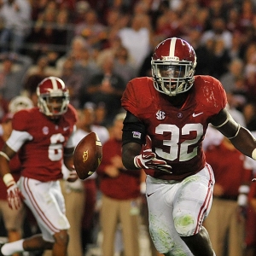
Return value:
M 63 148 L 73 132 L 76 120 L 76 111 L 71 105 L 57 124 L 41 113 L 38 108 L 24 109 L 15 113 L 13 130 L 21 131 L 20 137 L 26 132 L 28 137 L 20 148 L 22 176 L 42 182 L 62 177 Z M 15 150 L 13 141 L 10 140 L 7 144 Z

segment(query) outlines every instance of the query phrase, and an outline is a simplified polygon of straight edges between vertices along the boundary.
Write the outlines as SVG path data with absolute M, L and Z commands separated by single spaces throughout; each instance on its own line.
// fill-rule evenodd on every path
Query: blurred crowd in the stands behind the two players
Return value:
M 151 76 L 154 47 L 177 37 L 195 49 L 195 74 L 219 79 L 256 131 L 255 0 L 0 0 L 0 21 L 0 120 L 15 96 L 37 105 L 38 83 L 54 75 L 109 128 L 125 85 Z

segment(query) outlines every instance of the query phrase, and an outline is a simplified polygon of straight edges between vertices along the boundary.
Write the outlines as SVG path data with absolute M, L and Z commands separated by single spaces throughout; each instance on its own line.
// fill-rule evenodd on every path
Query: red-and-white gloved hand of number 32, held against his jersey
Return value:
M 172 173 L 172 166 L 168 166 L 165 160 L 156 158 L 156 154 L 152 151 L 152 141 L 148 136 L 146 137 L 146 144 L 143 145 L 143 153 L 134 158 L 134 165 L 141 169 Z

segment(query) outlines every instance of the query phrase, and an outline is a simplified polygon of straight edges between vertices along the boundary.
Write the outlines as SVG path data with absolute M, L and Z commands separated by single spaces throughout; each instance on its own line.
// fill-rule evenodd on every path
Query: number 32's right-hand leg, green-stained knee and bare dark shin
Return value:
M 173 203 L 173 220 L 177 233 L 195 256 L 213 256 L 207 230 L 202 226 L 212 205 L 214 177 L 212 168 L 187 177 L 180 183 Z

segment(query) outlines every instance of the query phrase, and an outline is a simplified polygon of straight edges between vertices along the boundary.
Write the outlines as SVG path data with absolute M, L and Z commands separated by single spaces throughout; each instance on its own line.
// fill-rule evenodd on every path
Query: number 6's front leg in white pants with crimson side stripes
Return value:
M 53 243 L 53 255 L 66 255 L 67 230 L 70 225 L 65 215 L 65 201 L 60 183 L 42 183 L 27 177 L 20 177 L 19 185 L 22 195 L 25 196 L 26 205 L 38 222 L 44 241 Z M 42 244 L 45 246 L 44 243 Z M 29 245 L 32 246 L 32 243 Z

